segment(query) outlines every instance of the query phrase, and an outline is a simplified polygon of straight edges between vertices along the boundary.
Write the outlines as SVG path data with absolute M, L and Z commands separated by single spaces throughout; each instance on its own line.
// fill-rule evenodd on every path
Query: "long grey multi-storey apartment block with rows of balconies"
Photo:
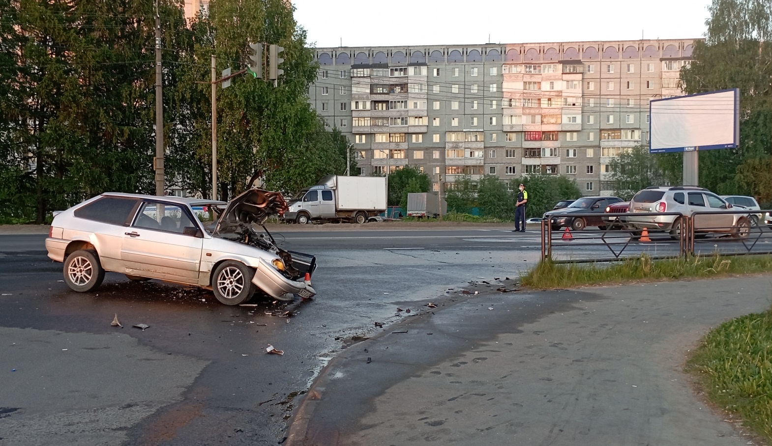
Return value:
M 320 48 L 309 97 L 354 144 L 358 174 L 409 164 L 435 191 L 560 174 L 608 194 L 612 157 L 648 144 L 649 100 L 682 94 L 693 42 Z

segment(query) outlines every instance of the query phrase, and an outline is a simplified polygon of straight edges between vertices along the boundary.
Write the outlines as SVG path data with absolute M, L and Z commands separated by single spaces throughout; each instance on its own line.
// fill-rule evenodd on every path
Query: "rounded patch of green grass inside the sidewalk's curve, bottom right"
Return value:
M 692 353 L 694 374 L 714 404 L 772 441 L 772 311 L 721 324 Z

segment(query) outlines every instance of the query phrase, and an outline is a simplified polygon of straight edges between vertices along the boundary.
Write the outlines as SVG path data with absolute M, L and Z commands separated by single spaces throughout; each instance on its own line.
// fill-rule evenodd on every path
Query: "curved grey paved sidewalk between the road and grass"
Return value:
M 682 370 L 711 327 L 768 309 L 770 282 L 491 289 L 414 307 L 328 364 L 287 444 L 753 444 Z

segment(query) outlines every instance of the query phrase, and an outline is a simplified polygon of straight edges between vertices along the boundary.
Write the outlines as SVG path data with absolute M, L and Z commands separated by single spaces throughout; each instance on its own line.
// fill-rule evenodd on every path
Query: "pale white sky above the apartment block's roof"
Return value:
M 712 0 L 292 2 L 308 42 L 320 48 L 341 39 L 343 46 L 696 39 Z

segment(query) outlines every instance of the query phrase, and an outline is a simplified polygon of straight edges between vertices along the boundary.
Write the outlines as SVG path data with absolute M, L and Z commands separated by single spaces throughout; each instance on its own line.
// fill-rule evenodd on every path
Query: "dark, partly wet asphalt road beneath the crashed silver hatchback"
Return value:
M 471 280 L 515 278 L 540 258 L 537 229 L 376 228 L 277 233 L 320 265 L 317 298 L 289 307 L 222 306 L 209 292 L 113 273 L 76 293 L 46 257 L 45 235 L 0 235 L 0 445 L 277 444 L 294 398 L 337 352 L 381 331 L 376 323 L 448 302 L 449 288 Z M 606 255 L 581 240 L 591 233 L 558 243 Z M 672 247 L 652 239 L 631 246 Z M 266 314 L 287 309 L 293 317 Z M 110 326 L 115 315 L 124 328 Z

